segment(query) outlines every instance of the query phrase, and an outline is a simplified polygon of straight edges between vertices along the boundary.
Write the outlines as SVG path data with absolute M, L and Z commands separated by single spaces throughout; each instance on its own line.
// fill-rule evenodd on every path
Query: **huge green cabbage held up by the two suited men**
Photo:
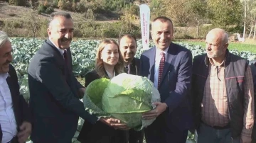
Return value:
M 142 130 L 155 120 L 142 120 L 142 113 L 154 108 L 151 103 L 160 101 L 160 94 L 146 77 L 119 74 L 111 80 L 92 81 L 83 100 L 91 114 L 111 116 L 134 130 Z

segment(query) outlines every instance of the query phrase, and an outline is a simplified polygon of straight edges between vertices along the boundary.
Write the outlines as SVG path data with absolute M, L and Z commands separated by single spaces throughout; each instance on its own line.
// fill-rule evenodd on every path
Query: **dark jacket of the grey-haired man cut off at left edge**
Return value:
M 31 113 L 28 109 L 28 103 L 26 103 L 23 96 L 19 93 L 18 77 L 14 67 L 9 65 L 9 77 L 6 81 L 11 91 L 12 103 L 14 105 L 14 116 L 16 119 L 17 130 L 19 131 L 19 126 L 22 122 L 31 122 Z M 2 130 L 0 125 L 0 142 L 2 140 Z

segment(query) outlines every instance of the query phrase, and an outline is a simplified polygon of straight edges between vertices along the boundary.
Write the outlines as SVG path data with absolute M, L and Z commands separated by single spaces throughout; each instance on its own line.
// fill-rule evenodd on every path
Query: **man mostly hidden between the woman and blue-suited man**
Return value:
M 137 52 L 137 40 L 132 34 L 124 34 L 119 37 L 119 49 L 124 59 L 124 71 L 127 74 L 139 75 L 139 59 L 135 56 Z M 142 143 L 144 131 L 127 131 L 127 141 L 129 143 Z

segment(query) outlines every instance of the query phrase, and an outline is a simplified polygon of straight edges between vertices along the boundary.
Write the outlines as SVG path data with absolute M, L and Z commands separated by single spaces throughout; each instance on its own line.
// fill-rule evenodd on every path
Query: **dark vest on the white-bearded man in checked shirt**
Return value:
M 201 122 L 201 103 L 203 100 L 203 91 L 208 77 L 209 59 L 206 55 L 195 57 L 193 62 L 192 76 L 192 100 L 193 116 L 195 127 L 198 128 Z M 243 101 L 245 70 L 248 62 L 242 57 L 238 57 L 228 52 L 225 59 L 224 79 L 228 98 L 228 110 L 230 118 L 231 137 L 238 137 L 243 127 Z

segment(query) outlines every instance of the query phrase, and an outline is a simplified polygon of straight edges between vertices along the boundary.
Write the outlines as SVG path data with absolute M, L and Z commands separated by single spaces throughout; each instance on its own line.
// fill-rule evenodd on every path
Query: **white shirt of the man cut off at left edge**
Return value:
M 11 91 L 6 81 L 8 76 L 8 73 L 0 74 L 0 125 L 3 132 L 1 140 L 3 143 L 11 141 L 18 132 Z

